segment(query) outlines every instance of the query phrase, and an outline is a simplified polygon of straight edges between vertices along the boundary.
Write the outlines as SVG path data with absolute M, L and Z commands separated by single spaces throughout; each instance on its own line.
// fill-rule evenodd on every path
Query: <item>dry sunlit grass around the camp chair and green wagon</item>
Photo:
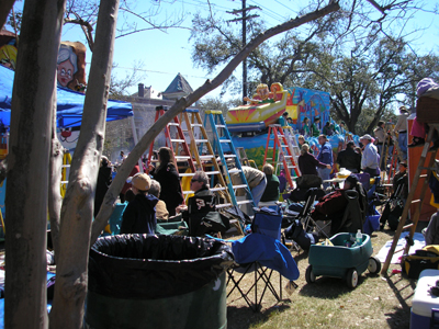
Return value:
M 374 253 L 392 238 L 392 232 L 374 232 L 372 246 Z M 361 274 L 358 286 L 349 290 L 341 279 L 317 277 L 313 284 L 305 281 L 308 265 L 307 253 L 293 252 L 301 271 L 296 281 L 299 288 L 283 300 L 266 293 L 260 313 L 252 313 L 245 300 L 235 292 L 227 299 L 228 328 L 408 328 L 409 308 L 416 282 L 401 274 L 389 277 Z M 391 265 L 401 269 L 399 265 Z M 274 273 L 274 272 L 273 272 Z M 279 276 L 273 274 L 271 282 L 279 291 Z M 252 283 L 248 275 L 244 286 Z M 286 285 L 283 279 L 282 286 Z

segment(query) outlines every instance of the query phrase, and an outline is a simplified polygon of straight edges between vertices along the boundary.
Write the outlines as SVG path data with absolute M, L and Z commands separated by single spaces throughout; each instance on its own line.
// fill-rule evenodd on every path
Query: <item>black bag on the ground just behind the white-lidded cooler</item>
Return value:
M 426 246 L 413 254 L 404 256 L 401 265 L 410 279 L 418 279 L 426 269 L 439 270 L 439 245 Z

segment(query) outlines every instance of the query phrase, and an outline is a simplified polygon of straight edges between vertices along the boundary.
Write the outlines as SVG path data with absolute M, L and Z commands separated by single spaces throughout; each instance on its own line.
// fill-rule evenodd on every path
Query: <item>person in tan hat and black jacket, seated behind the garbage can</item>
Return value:
M 128 203 L 122 216 L 121 234 L 149 234 L 156 231 L 156 204 L 158 198 L 148 194 L 151 180 L 148 174 L 138 172 L 128 178 L 134 200 Z

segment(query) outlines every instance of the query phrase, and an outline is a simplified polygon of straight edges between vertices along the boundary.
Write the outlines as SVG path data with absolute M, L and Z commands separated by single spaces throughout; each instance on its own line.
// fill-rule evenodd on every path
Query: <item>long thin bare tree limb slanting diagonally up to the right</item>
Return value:
M 113 180 L 109 191 L 105 194 L 104 201 L 102 203 L 101 209 L 93 222 L 91 231 L 91 243 L 94 243 L 101 231 L 104 229 L 115 205 L 119 192 L 122 190 L 131 170 L 136 164 L 140 156 L 148 149 L 150 143 L 157 135 L 165 128 L 165 126 L 178 114 L 180 114 L 185 107 L 196 102 L 203 95 L 214 90 L 221 86 L 236 69 L 236 67 L 246 58 L 252 50 L 255 50 L 260 44 L 266 39 L 278 35 L 282 32 L 289 31 L 291 29 L 301 26 L 311 21 L 323 18 L 331 12 L 339 10 L 340 7 L 338 2 L 330 1 L 328 5 L 322 8 L 320 10 L 307 13 L 303 16 L 290 20 L 283 24 L 274 26 L 267 30 L 264 33 L 259 34 L 252 41 L 250 41 L 246 47 L 243 48 L 228 64 L 227 66 L 211 81 L 207 80 L 202 87 L 196 89 L 194 92 L 189 94 L 187 98 L 178 100 L 169 111 L 165 113 L 153 126 L 142 137 L 134 149 L 130 152 L 130 156 L 125 159 L 123 164 L 117 171 L 116 177 Z

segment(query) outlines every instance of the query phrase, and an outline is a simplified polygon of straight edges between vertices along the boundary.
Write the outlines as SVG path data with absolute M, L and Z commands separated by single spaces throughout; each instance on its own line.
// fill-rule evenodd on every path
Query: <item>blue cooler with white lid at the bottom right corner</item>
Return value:
M 410 328 L 430 328 L 431 309 L 439 309 L 439 297 L 430 295 L 430 287 L 436 286 L 439 280 L 439 270 L 424 270 L 419 274 L 415 295 L 412 302 Z M 436 318 L 439 313 L 436 314 Z

